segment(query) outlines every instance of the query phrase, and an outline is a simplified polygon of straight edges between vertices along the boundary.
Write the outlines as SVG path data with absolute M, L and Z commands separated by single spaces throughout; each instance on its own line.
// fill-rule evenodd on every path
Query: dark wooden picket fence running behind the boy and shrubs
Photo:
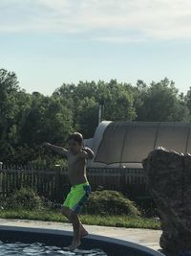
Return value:
M 142 169 L 90 168 L 87 175 L 93 191 L 101 187 L 122 192 L 132 199 L 150 197 Z M 70 190 L 67 169 L 4 167 L 0 170 L 2 197 L 10 196 L 21 187 L 32 187 L 46 198 L 62 201 Z

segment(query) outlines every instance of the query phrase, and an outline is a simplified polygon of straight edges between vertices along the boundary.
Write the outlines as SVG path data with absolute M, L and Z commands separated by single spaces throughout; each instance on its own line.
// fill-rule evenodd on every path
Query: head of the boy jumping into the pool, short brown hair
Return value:
M 79 132 L 74 132 L 69 135 L 67 142 L 69 144 L 69 150 L 77 153 L 82 149 L 83 146 L 83 136 Z

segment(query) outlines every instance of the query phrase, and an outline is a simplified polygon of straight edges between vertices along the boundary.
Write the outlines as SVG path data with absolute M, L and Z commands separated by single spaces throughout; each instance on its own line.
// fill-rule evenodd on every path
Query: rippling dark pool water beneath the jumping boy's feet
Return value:
M 0 241 L 0 256 L 60 256 L 60 255 L 89 255 L 89 256 L 107 256 L 101 249 L 82 250 L 75 249 L 69 251 L 53 245 L 41 243 L 24 244 L 21 242 L 8 243 Z

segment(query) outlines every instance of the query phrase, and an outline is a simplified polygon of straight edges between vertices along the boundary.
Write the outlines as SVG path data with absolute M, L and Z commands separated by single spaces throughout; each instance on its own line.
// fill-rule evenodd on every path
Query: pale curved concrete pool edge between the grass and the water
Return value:
M 133 246 L 137 244 L 140 248 L 148 248 L 156 251 L 156 255 L 159 255 L 159 237 L 161 230 L 140 229 L 140 228 L 123 228 L 123 227 L 111 227 L 111 226 L 98 226 L 98 225 L 84 225 L 88 230 L 88 238 L 101 239 L 102 241 L 115 241 L 119 240 L 119 243 L 129 244 Z M 32 232 L 34 229 L 37 232 L 48 232 L 56 234 L 73 235 L 72 225 L 70 223 L 61 223 L 53 221 L 27 221 L 27 220 L 10 220 L 0 219 L 0 229 L 6 230 L 27 230 Z M 161 254 L 163 255 L 163 254 Z

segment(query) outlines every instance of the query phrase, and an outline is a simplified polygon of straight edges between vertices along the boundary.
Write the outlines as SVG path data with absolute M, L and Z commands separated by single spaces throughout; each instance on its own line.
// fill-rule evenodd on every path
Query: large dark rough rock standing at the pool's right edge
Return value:
M 161 148 L 142 164 L 158 207 L 160 246 L 173 252 L 191 250 L 191 155 Z

